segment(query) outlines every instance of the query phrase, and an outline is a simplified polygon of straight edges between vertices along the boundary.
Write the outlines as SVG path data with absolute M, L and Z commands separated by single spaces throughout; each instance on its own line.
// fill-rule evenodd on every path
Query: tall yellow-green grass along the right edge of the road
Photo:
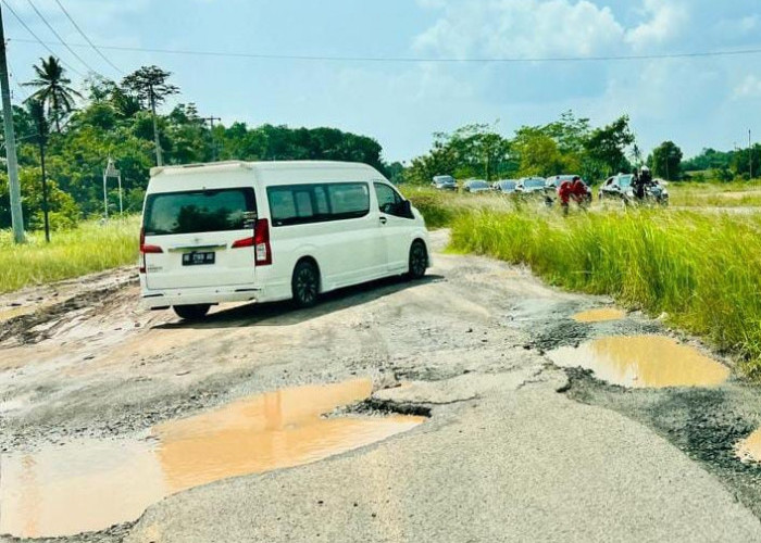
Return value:
M 453 249 L 525 263 L 550 283 L 610 294 L 739 354 L 761 378 L 761 218 L 659 211 L 462 216 Z

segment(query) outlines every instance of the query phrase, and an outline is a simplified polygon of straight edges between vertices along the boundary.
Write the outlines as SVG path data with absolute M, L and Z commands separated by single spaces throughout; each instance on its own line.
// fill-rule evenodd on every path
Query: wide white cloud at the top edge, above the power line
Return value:
M 624 35 L 609 8 L 582 0 L 419 0 L 444 10 L 415 39 L 417 50 L 457 58 L 590 55 Z

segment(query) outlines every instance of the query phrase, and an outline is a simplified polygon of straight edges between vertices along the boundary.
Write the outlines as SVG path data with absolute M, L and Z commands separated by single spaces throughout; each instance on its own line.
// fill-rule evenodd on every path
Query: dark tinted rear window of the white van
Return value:
M 150 194 L 146 201 L 146 236 L 253 229 L 253 189 L 196 190 Z

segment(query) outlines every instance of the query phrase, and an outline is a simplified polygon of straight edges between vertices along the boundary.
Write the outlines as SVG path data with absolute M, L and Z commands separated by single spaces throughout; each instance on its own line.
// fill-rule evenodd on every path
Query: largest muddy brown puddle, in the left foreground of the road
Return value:
M 0 533 L 73 535 L 137 519 L 194 487 L 298 466 L 404 432 L 423 417 L 321 418 L 364 400 L 370 380 L 282 390 L 154 427 L 0 456 Z

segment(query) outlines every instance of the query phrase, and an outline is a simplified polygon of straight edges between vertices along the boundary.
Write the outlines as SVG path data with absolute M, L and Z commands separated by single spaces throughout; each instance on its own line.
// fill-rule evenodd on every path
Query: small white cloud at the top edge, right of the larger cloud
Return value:
M 636 50 L 666 43 L 687 29 L 689 10 L 673 0 L 645 0 L 644 11 L 649 18 L 626 33 L 626 41 Z

